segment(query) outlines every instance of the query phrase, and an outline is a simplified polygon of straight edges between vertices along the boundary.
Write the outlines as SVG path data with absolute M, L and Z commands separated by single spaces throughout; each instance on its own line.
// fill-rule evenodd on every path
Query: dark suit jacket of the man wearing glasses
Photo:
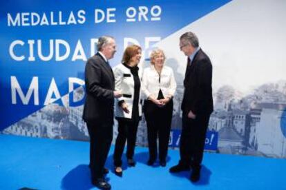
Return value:
M 211 88 L 212 65 L 207 54 L 199 50 L 191 66 L 187 66 L 184 77 L 184 98 L 182 111 L 188 114 L 211 114 L 213 95 Z

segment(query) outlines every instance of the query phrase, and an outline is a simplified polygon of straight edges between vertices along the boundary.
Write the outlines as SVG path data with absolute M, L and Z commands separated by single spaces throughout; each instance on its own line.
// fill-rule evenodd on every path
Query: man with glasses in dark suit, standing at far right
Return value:
M 190 180 L 197 182 L 200 180 L 209 117 L 213 112 L 212 65 L 207 54 L 200 49 L 198 38 L 193 32 L 180 36 L 180 50 L 188 57 L 182 100 L 180 162 L 171 167 L 170 172 L 192 169 Z

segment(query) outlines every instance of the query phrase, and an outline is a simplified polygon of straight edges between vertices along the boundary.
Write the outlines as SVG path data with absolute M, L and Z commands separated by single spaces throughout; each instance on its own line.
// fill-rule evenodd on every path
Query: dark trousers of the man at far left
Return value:
M 90 171 L 92 180 L 103 178 L 104 165 L 113 138 L 113 123 L 106 121 L 88 121 L 90 136 Z

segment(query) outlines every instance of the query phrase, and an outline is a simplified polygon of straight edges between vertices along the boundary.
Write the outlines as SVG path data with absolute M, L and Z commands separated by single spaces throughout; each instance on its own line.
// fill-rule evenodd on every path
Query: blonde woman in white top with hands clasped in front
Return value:
M 160 165 L 165 167 L 173 116 L 173 96 L 177 85 L 173 70 L 164 65 L 165 55 L 162 50 L 151 52 L 150 59 L 151 66 L 144 70 L 142 78 L 142 92 L 146 97 L 144 116 L 149 144 L 147 165 L 153 165 L 157 159 L 159 138 Z

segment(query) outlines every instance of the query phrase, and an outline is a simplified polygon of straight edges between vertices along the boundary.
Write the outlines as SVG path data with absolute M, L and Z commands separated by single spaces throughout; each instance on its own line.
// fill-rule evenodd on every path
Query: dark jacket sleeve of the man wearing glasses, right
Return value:
M 198 63 L 198 86 L 196 88 L 196 97 L 191 106 L 193 114 L 203 112 L 207 109 L 208 97 L 211 96 L 211 78 L 212 66 L 209 60 L 203 59 Z

